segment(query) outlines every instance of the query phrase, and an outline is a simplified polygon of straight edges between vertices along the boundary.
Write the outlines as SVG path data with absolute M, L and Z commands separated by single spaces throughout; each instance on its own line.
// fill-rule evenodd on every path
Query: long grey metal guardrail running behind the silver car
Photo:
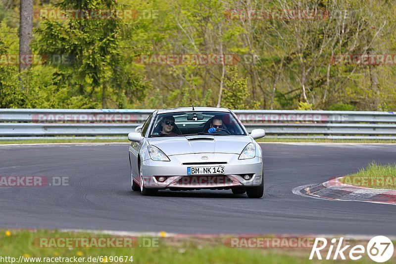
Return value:
M 0 139 L 118 136 L 135 131 L 154 109 L 0 109 Z M 396 112 L 234 110 L 248 132 L 268 137 L 396 139 Z

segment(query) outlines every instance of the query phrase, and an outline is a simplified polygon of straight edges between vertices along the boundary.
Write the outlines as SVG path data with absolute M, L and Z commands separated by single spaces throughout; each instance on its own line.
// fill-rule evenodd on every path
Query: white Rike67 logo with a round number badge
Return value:
M 370 239 L 367 246 L 355 245 L 349 248 L 350 245 L 343 247 L 344 238 L 341 237 L 338 241 L 333 238 L 328 246 L 326 238 L 318 237 L 312 247 L 309 260 L 314 259 L 315 255 L 318 260 L 322 260 L 322 253 L 327 253 L 323 256 L 326 260 L 346 260 L 346 256 L 350 260 L 357 261 L 367 254 L 372 261 L 383 263 L 389 261 L 394 253 L 394 245 L 392 241 L 386 236 L 376 236 Z M 327 247 L 328 246 L 328 247 Z

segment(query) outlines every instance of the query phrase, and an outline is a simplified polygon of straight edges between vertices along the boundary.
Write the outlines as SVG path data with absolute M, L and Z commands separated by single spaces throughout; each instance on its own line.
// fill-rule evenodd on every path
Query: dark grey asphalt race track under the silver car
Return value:
M 0 146 L 0 176 L 65 176 L 69 186 L 0 188 L 0 228 L 172 233 L 396 235 L 393 205 L 326 201 L 292 189 L 396 162 L 396 145 L 262 144 L 265 195 L 132 192 L 128 144 Z

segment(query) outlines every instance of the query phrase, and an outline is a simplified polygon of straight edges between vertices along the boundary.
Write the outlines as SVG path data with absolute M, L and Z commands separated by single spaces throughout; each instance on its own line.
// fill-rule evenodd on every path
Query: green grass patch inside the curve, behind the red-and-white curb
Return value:
M 340 182 L 359 187 L 395 190 L 396 164 L 381 165 L 372 162 L 366 168 L 343 177 Z

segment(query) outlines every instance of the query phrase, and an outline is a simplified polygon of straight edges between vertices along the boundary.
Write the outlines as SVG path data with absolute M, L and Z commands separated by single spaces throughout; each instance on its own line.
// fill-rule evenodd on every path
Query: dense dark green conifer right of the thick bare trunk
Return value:
M 114 0 L 66 0 L 62 9 L 115 9 Z M 63 54 L 74 58 L 69 67 L 59 68 L 71 88 L 69 107 L 128 107 L 145 96 L 148 84 L 131 67 L 131 58 L 122 54 L 120 19 L 45 20 L 36 29 L 36 50 L 44 54 Z

